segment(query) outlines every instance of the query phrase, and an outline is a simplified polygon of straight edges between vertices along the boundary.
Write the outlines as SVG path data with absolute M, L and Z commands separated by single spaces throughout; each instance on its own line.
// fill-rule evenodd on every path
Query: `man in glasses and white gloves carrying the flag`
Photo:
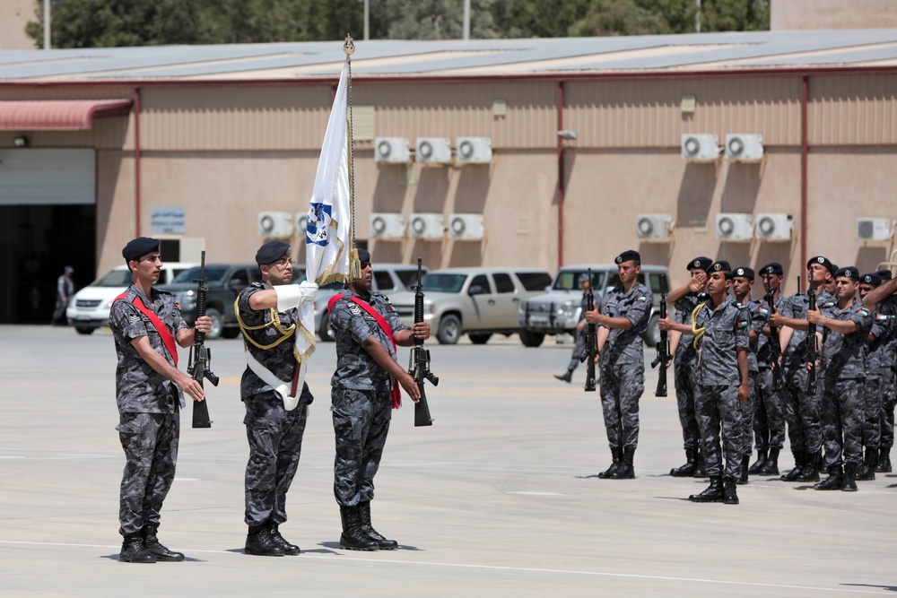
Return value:
M 249 530 L 244 551 L 265 557 L 300 553 L 298 546 L 283 538 L 279 526 L 287 518 L 286 493 L 299 466 L 313 400 L 304 381 L 298 388 L 300 356 L 295 334 L 302 330 L 299 305 L 315 300 L 318 285 L 290 284 L 290 253 L 283 241 L 259 247 L 256 264 L 262 282 L 242 290 L 234 304 L 248 361 L 239 385 L 249 443 L 244 516 Z

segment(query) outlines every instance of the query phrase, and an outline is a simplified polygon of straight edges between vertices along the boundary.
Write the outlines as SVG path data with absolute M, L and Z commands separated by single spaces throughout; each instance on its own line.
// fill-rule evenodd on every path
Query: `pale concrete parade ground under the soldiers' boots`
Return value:
M 682 437 L 649 370 L 636 478 L 598 480 L 610 455 L 598 393 L 553 378 L 571 346 L 516 336 L 429 342 L 440 385 L 433 426 L 394 412 L 373 520 L 398 550 L 339 549 L 328 407 L 332 343 L 310 363 L 315 394 L 281 531 L 298 557 L 242 553 L 248 455 L 242 343 L 213 341 L 212 429 L 182 417 L 178 475 L 161 542 L 181 563 L 118 562 L 111 334 L 0 326 L 0 596 L 854 596 L 897 593 L 897 474 L 856 493 L 778 476 L 738 487 L 741 504 L 687 500 L 707 481 L 672 478 Z M 407 360 L 408 350 L 400 350 Z M 653 355 L 646 355 L 650 360 Z M 181 351 L 181 368 L 187 351 Z M 188 405 L 187 410 L 191 407 Z M 897 455 L 895 455 L 897 456 Z M 779 462 L 791 466 L 786 449 Z

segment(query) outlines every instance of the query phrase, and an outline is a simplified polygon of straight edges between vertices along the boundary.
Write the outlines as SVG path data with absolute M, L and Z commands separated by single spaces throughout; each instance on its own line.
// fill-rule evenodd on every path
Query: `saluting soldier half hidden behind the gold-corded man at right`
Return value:
M 698 256 L 686 264 L 691 279 L 680 289 L 666 295 L 666 303 L 675 308 L 675 323 L 687 325 L 688 332 L 670 331 L 670 353 L 673 355 L 673 376 L 675 379 L 675 402 L 682 426 L 685 464 L 674 467 L 670 475 L 676 478 L 703 477 L 701 468 L 701 432 L 694 414 L 693 373 L 698 360 L 692 334 L 692 310 L 698 304 L 710 299 L 707 289 L 707 268 L 713 264 L 710 257 Z

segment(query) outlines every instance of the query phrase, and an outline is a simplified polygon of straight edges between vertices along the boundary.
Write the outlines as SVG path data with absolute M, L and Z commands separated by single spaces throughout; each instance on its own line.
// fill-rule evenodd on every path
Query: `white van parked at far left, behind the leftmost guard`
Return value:
M 196 264 L 163 263 L 157 285 L 171 282 L 179 273 Z M 65 318 L 78 334 L 91 334 L 100 326 L 109 325 L 112 301 L 131 284 L 131 271 L 125 264 L 117 265 L 97 280 L 79 290 L 65 308 Z

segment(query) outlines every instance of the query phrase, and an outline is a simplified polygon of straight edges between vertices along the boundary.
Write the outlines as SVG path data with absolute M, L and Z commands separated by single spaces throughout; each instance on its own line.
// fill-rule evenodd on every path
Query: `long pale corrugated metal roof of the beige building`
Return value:
M 353 75 L 625 73 L 897 61 L 897 29 L 572 39 L 356 40 Z M 342 42 L 0 52 L 0 81 L 332 77 Z

